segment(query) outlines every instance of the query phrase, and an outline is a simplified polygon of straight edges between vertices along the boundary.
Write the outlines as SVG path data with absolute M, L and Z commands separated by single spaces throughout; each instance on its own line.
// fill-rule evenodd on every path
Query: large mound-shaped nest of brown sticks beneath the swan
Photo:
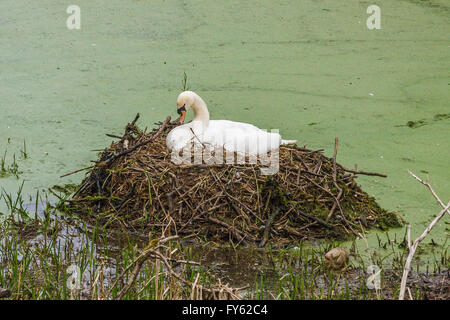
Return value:
M 355 182 L 359 174 L 385 176 L 338 164 L 337 138 L 333 158 L 281 146 L 278 173 L 261 175 L 260 163 L 175 164 L 165 140 L 177 121 L 168 117 L 147 133 L 136 126 L 138 118 L 123 136 L 107 134 L 117 141 L 100 153 L 68 202 L 94 225 L 260 247 L 269 240 L 348 239 L 363 229 L 400 225 Z

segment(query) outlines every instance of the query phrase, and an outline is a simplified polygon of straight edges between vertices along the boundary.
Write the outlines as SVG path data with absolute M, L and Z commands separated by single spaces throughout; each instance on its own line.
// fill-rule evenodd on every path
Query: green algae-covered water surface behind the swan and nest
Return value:
M 440 207 L 406 169 L 450 201 L 447 1 L 376 1 L 380 30 L 366 26 L 368 1 L 81 0 L 80 30 L 66 27 L 69 4 L 0 3 L 0 156 L 21 171 L 0 177 L 6 192 L 79 183 L 59 176 L 88 166 L 105 133 L 137 112 L 142 127 L 176 116 L 186 72 L 214 119 L 328 156 L 339 137 L 338 162 L 388 175 L 358 181 L 413 237 Z M 426 242 L 447 237 L 442 221 Z

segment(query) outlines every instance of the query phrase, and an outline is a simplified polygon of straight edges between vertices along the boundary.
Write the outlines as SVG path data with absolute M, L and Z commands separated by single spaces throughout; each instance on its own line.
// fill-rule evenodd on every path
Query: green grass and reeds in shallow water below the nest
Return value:
M 391 239 L 388 233 L 378 238 L 378 248 L 360 252 L 354 242 L 347 270 L 336 272 L 327 269 L 323 261 L 325 252 L 342 246 L 336 241 L 316 247 L 299 242 L 285 249 L 188 245 L 179 239 L 160 245 L 153 233 L 124 233 L 84 224 L 65 210 L 70 192 L 64 188 L 52 188 L 58 199 L 53 205 L 48 195 L 39 191 L 33 204 L 25 204 L 22 190 L 23 184 L 15 195 L 2 190 L 0 197 L 8 210 L 0 217 L 0 288 L 10 290 L 9 299 L 115 299 L 119 295 L 122 299 L 204 299 L 209 297 L 207 290 L 223 288 L 227 282 L 227 288 L 248 285 L 240 291 L 240 296 L 247 299 L 398 296 L 399 270 L 406 258 L 402 247 L 405 239 Z M 151 256 L 133 275 L 136 261 L 148 250 L 156 250 L 152 248 L 170 259 L 173 272 L 161 259 Z M 448 270 L 447 249 L 446 243 L 435 246 L 434 261 L 427 265 L 426 275 Z M 367 287 L 369 264 L 383 270 L 380 290 Z M 80 271 L 81 278 L 75 276 L 74 270 Z M 79 287 L 73 287 L 78 280 Z M 206 288 L 203 293 L 199 286 Z M 428 297 L 420 285 L 411 283 L 410 287 L 414 299 Z

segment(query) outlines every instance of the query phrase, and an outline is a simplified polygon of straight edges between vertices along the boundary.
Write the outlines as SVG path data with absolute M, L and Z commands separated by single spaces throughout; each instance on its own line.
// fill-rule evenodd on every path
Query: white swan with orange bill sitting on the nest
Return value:
M 227 151 L 260 155 L 296 142 L 283 140 L 278 133 L 266 132 L 248 123 L 209 120 L 206 103 L 192 91 L 184 91 L 178 96 L 177 112 L 181 124 L 189 108 L 194 110 L 194 120 L 169 132 L 166 145 L 170 150 L 179 151 L 191 141 L 199 140 L 204 145 L 223 147 Z

